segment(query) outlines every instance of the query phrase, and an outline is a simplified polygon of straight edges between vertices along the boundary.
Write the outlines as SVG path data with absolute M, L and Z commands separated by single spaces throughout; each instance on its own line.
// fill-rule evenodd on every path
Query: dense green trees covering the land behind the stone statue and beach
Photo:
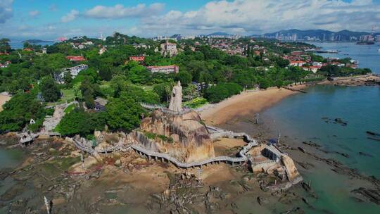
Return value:
M 129 132 L 139 125 L 141 115 L 146 113 L 139 103 L 166 105 L 172 86 L 178 80 L 184 87 L 184 101 L 201 98 L 202 103 L 215 103 L 239 94 L 243 89 L 282 87 L 329 75 L 370 72 L 329 65 L 313 74 L 289 66 L 289 61 L 281 58 L 282 54 L 308 44 L 279 47 L 270 40 L 259 41 L 267 50 L 267 53 L 260 54 L 253 54 L 250 39 L 234 41 L 248 46 L 246 56 L 213 49 L 202 39 L 181 40 L 177 42 L 179 54 L 172 58 L 155 51 L 159 41 L 119 33 L 105 41 L 80 37 L 51 46 L 25 42 L 23 50 L 11 49 L 8 42 L 8 39 L 0 40 L 0 52 L 4 53 L 0 55 L 0 63 L 11 62 L 8 68 L 0 68 L 0 92 L 8 92 L 13 97 L 0 112 L 0 132 L 19 131 L 25 126 L 38 130 L 46 115 L 51 115 L 45 106 L 70 99 L 79 101 L 80 107 L 65 114 L 56 127 L 61 134 L 91 137 L 94 130 Z M 72 43 L 80 42 L 93 44 L 75 49 Z M 195 42 L 198 45 L 195 46 Z M 145 44 L 145 48 L 137 47 L 137 44 Z M 102 46 L 106 46 L 107 51 L 99 54 Z M 44 48 L 46 53 L 41 52 Z M 141 55 L 145 56 L 144 63 L 129 61 L 129 56 Z M 73 63 L 66 56 L 83 56 L 86 61 Z M 312 57 L 324 61 L 318 56 Z M 65 73 L 63 84 L 54 80 L 63 68 L 79 64 L 89 65 L 89 68 L 73 79 L 70 73 Z M 149 65 L 178 65 L 179 73 L 151 73 L 146 70 Z M 108 100 L 105 111 L 94 110 L 97 97 Z M 29 124 L 31 118 L 36 120 L 33 125 Z

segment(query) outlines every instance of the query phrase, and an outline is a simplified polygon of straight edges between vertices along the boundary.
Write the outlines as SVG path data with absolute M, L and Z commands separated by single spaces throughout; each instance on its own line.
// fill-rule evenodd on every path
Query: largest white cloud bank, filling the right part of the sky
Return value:
M 250 34 L 291 28 L 369 31 L 380 23 L 379 11 L 380 5 L 370 0 L 211 1 L 197 11 L 169 11 L 143 18 L 141 28 L 157 34 L 204 30 Z

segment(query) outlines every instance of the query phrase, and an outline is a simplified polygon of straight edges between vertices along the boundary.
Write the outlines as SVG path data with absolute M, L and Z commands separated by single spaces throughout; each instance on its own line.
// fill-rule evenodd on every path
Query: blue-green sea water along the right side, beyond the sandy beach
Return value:
M 378 44 L 316 45 L 341 50 L 341 53 L 329 56 L 351 57 L 360 62 L 360 67 L 380 73 Z M 369 139 L 371 136 L 366 133 L 380 133 L 380 87 L 310 87 L 307 94 L 295 94 L 268 108 L 262 117 L 272 121 L 274 129 L 282 136 L 298 142 L 314 141 L 329 151 L 325 158 L 334 158 L 363 175 L 374 175 L 380 179 L 380 141 Z M 326 118 L 341 118 L 347 125 L 327 123 Z M 334 152 L 346 153 L 349 157 Z M 300 171 L 306 181 L 311 180 L 312 188 L 319 196 L 318 200 L 310 201 L 316 209 L 306 207 L 306 213 L 380 213 L 380 206 L 359 203 L 350 193 L 355 188 L 365 187 L 365 184 L 337 175 L 327 165 Z

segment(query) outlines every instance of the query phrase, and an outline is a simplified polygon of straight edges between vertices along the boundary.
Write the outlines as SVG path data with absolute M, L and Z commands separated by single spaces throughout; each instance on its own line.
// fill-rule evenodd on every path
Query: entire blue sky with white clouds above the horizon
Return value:
M 298 28 L 379 31 L 380 0 L 0 0 L 0 37 L 56 39 L 114 31 L 142 37 L 261 34 Z

